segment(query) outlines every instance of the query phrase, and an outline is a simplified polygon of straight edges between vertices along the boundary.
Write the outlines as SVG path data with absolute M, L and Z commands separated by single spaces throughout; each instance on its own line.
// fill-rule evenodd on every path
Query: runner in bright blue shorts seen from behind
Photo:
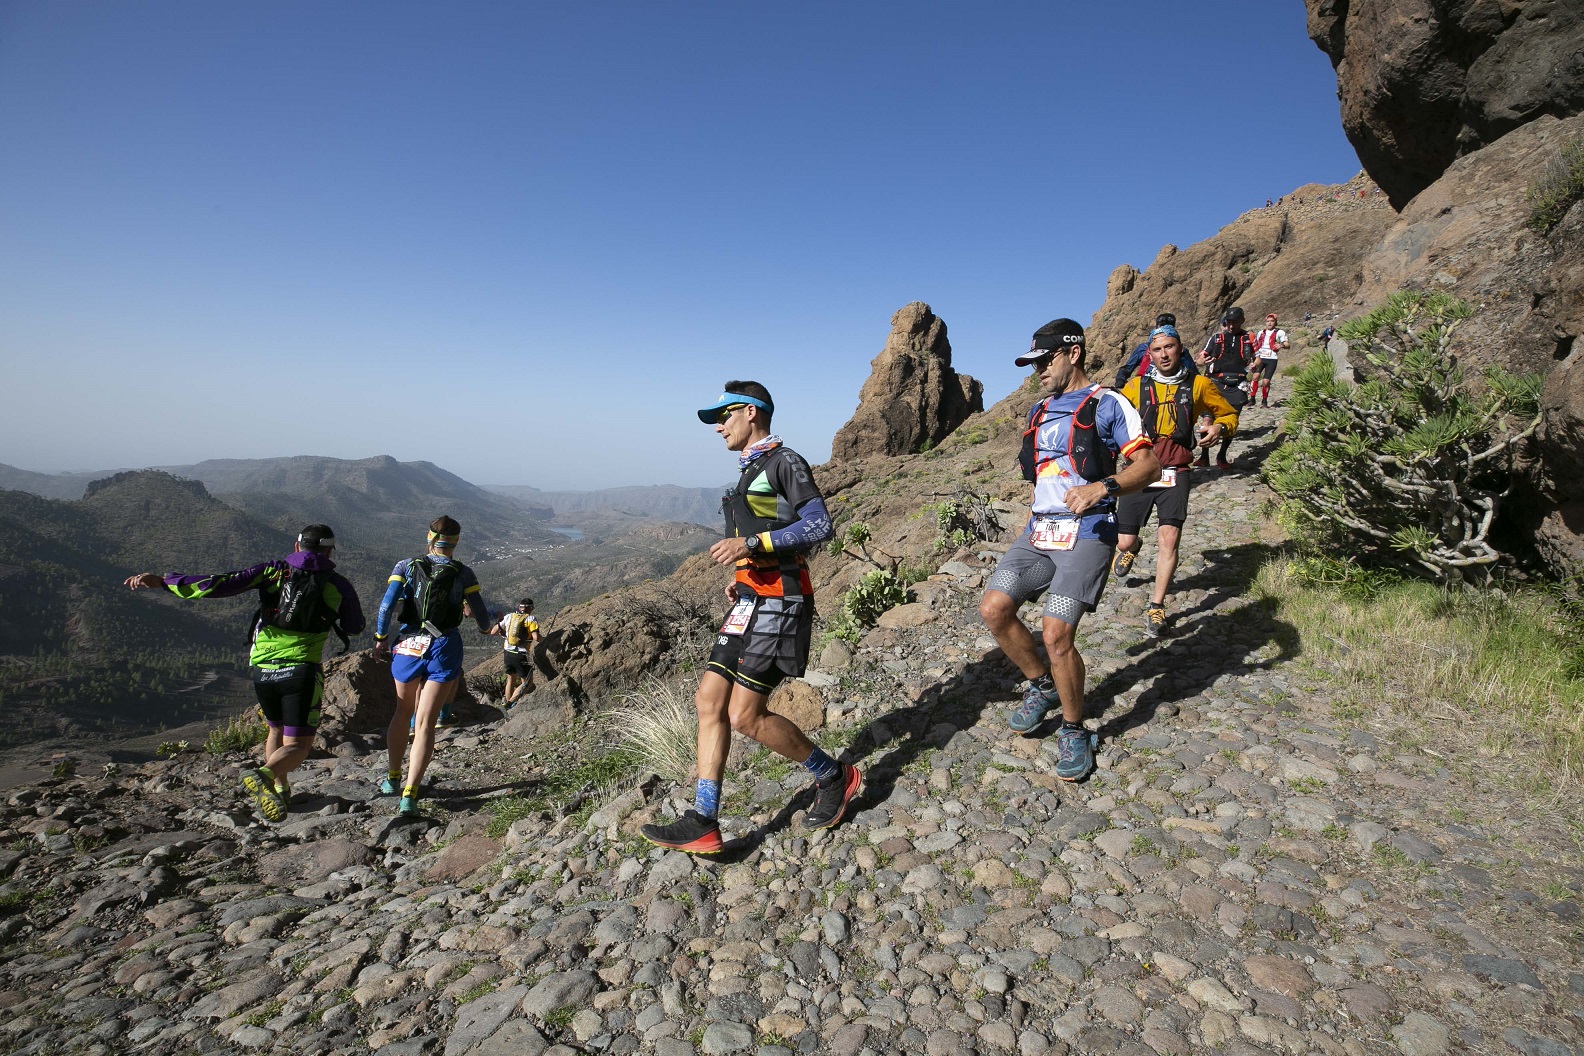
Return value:
M 396 681 L 396 714 L 386 731 L 390 768 L 380 793 L 401 792 L 401 814 L 418 814 L 418 788 L 434 755 L 434 724 L 445 712 L 463 679 L 463 617 L 488 635 L 494 619 L 485 605 L 474 570 L 456 560 L 463 526 L 448 516 L 429 524 L 429 549 L 396 562 L 374 619 L 374 657 L 390 660 Z M 398 625 L 391 644 L 391 629 Z M 402 782 L 407 731 L 412 724 L 412 758 Z

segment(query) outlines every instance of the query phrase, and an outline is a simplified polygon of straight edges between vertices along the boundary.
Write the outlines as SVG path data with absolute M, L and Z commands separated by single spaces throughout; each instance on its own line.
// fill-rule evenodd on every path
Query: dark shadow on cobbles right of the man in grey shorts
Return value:
M 1174 591 L 1205 591 L 1199 605 L 1177 614 L 1177 625 L 1205 614 L 1183 633 L 1167 632 L 1159 641 L 1131 646 L 1128 652 L 1136 657 L 1131 663 L 1088 687 L 1085 712 L 1093 719 L 1112 712 L 1123 690 L 1153 681 L 1129 709 L 1106 719 L 1102 739 L 1150 722 L 1163 705 L 1198 697 L 1226 674 L 1266 671 L 1302 652 L 1297 629 L 1277 619 L 1272 606 L 1250 600 L 1226 608 L 1231 600 L 1247 597 L 1259 567 L 1275 553 L 1262 543 L 1207 551 L 1212 565 L 1174 584 Z M 1267 646 L 1275 646 L 1275 654 L 1255 659 Z

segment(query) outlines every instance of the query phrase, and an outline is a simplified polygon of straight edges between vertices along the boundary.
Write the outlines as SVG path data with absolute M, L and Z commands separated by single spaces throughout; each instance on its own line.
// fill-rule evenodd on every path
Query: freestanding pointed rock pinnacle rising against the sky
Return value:
M 984 410 L 984 385 L 952 369 L 946 323 L 914 301 L 892 315 L 852 420 L 836 431 L 830 456 L 909 454 L 933 446 Z

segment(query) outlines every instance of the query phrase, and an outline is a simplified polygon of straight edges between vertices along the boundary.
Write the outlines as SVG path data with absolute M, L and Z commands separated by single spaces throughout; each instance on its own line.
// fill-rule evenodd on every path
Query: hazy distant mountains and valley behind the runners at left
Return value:
M 708 546 L 718 503 L 716 489 L 483 489 L 390 456 L 105 473 L 0 465 L 0 747 L 127 736 L 249 700 L 257 597 L 133 594 L 122 581 L 135 572 L 246 568 L 323 521 L 372 617 L 391 565 L 423 553 L 429 521 L 448 513 L 491 603 L 534 595 L 548 621 L 561 605 L 665 575 Z M 686 524 L 702 507 L 714 532 Z

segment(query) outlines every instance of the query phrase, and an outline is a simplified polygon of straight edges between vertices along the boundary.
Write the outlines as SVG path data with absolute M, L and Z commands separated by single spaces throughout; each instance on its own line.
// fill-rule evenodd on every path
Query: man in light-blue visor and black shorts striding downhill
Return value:
M 725 600 L 732 605 L 694 703 L 699 708 L 699 784 L 694 807 L 668 825 L 645 825 L 651 844 L 695 855 L 719 852 L 721 779 L 732 730 L 802 765 L 814 777 L 814 804 L 805 828 L 830 828 L 863 785 L 857 766 L 814 747 L 789 719 L 765 703 L 782 679 L 808 667 L 814 625 L 814 586 L 805 554 L 832 535 L 825 499 L 803 456 L 770 432 L 776 405 L 757 382 L 727 382 L 721 397 L 699 412 L 727 451 L 737 451 L 737 486 L 721 502 L 725 538 L 710 548 L 718 564 L 735 565 Z

